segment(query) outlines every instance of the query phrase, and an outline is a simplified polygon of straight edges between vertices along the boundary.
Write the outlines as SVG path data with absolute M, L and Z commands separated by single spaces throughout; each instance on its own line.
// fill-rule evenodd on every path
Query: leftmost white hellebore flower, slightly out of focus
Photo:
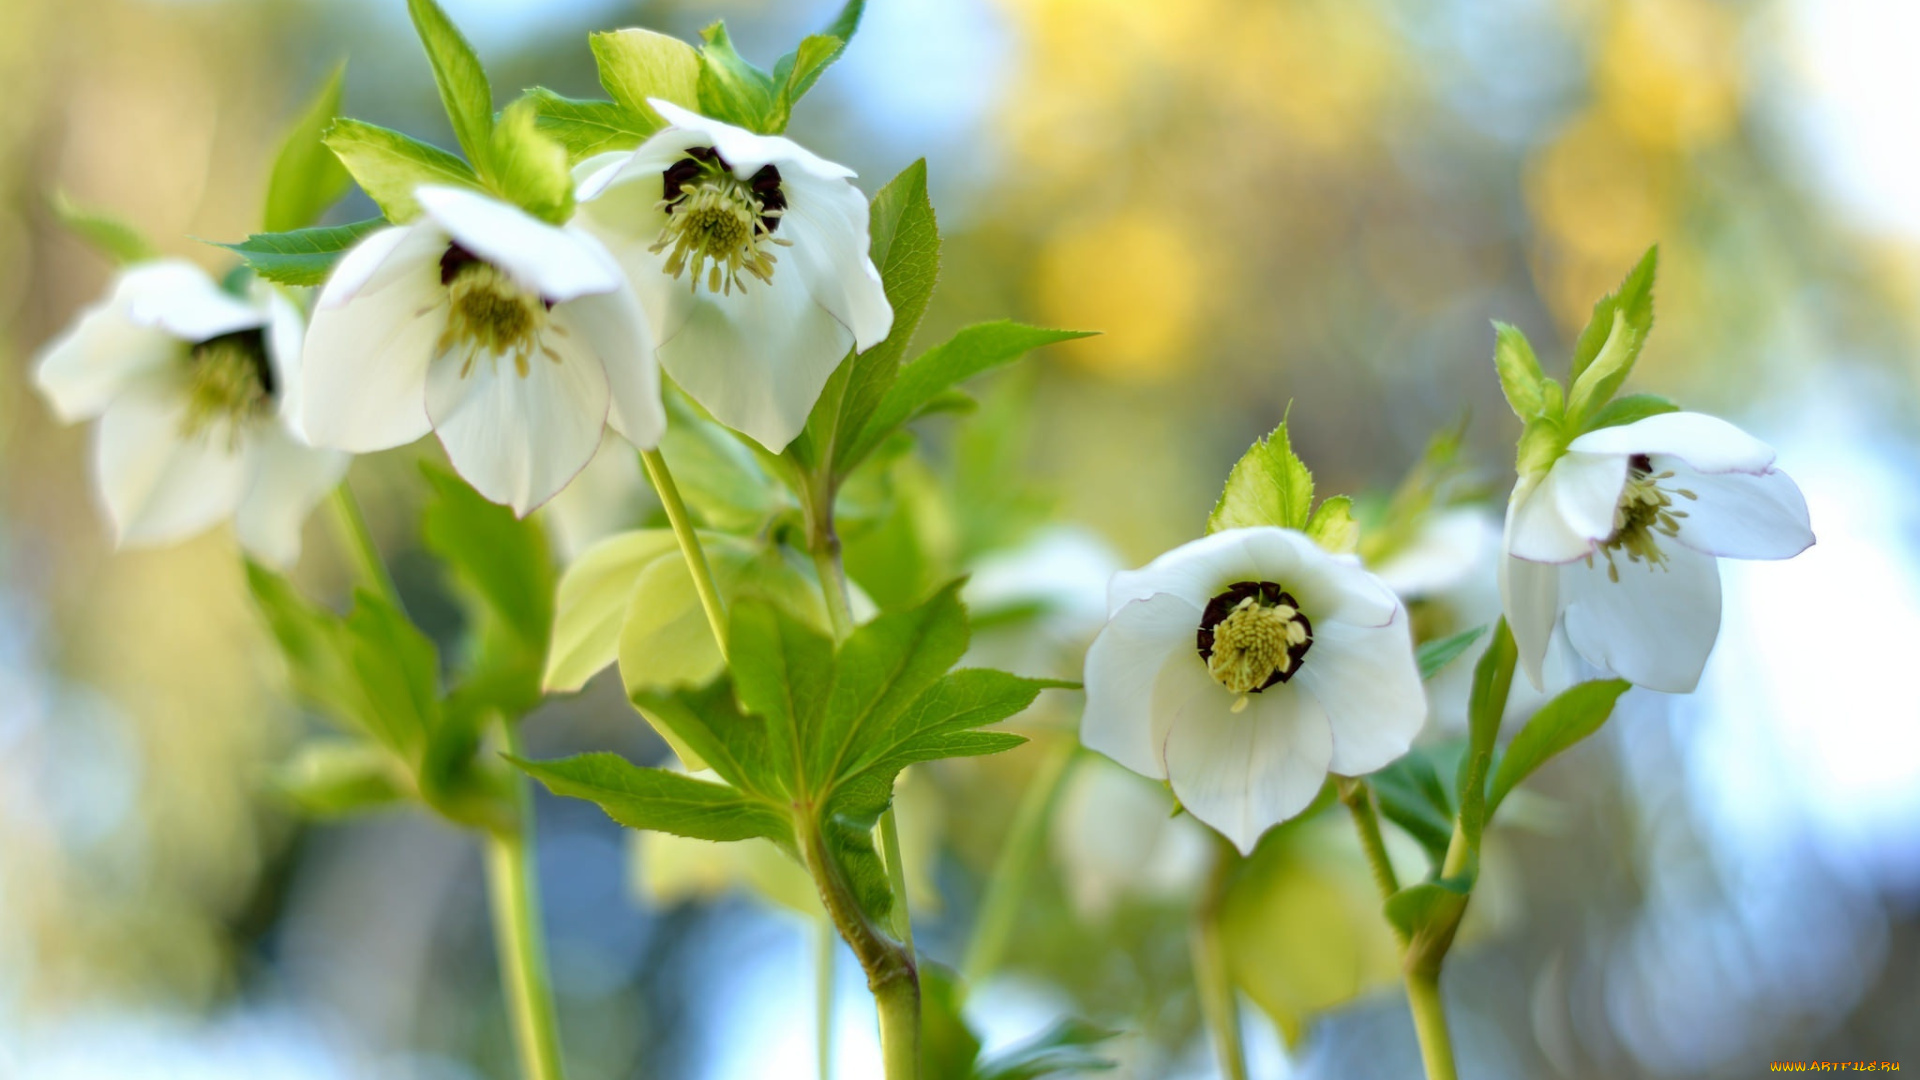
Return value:
M 129 267 L 46 352 L 35 384 L 61 421 L 100 419 L 94 473 L 121 546 L 232 519 L 263 563 L 300 557 L 300 527 L 348 469 L 288 429 L 300 311 L 269 286 L 221 290 L 200 267 Z

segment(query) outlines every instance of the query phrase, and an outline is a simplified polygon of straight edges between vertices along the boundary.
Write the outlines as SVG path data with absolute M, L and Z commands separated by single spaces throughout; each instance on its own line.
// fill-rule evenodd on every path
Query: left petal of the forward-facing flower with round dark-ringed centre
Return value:
M 1081 742 L 1089 749 L 1165 780 L 1160 755 L 1169 717 L 1154 707 L 1154 680 L 1183 651 L 1198 663 L 1198 628 L 1200 609 L 1167 594 L 1135 600 L 1114 615 L 1087 650 Z

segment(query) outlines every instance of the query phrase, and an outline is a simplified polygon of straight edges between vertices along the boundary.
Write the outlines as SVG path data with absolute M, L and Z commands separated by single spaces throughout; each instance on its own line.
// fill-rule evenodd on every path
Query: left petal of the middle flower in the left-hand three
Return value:
M 315 446 L 367 454 L 432 429 L 426 365 L 447 325 L 445 250 L 438 227 L 409 225 L 367 236 L 340 261 L 300 359 L 296 430 Z

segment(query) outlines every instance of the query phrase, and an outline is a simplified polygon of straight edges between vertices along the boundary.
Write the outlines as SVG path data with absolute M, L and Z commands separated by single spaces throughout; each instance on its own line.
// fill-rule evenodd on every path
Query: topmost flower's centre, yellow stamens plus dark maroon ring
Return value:
M 666 211 L 666 227 L 647 250 L 668 252 L 668 277 L 691 269 L 695 292 L 703 277 L 710 292 L 726 294 L 747 288 L 743 273 L 772 282 L 776 259 L 768 248 L 793 244 L 774 236 L 787 211 L 780 169 L 766 165 L 741 181 L 710 146 L 693 146 L 660 173 L 659 206 Z

